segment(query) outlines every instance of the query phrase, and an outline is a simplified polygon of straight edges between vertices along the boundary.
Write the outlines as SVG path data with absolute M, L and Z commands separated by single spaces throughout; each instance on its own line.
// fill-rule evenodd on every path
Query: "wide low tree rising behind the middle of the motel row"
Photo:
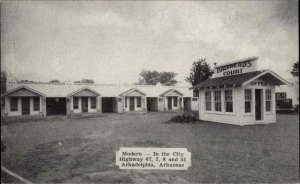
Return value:
M 166 86 L 174 86 L 177 81 L 174 79 L 177 74 L 174 72 L 158 72 L 151 70 L 142 70 L 137 84 L 156 85 L 161 83 Z

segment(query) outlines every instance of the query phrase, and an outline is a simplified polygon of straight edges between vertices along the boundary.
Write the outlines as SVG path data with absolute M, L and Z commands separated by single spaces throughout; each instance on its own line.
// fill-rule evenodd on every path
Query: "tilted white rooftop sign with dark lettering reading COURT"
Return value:
M 225 77 L 256 71 L 258 57 L 248 58 L 233 63 L 216 66 L 214 77 Z

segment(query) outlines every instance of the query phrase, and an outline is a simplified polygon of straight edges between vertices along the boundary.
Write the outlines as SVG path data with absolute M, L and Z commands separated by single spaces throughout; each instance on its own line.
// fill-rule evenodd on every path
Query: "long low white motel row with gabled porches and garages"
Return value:
M 198 110 L 190 87 L 7 81 L 4 117 Z

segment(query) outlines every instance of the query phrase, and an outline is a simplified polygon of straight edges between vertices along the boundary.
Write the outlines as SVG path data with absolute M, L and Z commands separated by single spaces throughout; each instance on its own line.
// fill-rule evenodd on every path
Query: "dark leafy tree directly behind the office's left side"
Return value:
M 191 83 L 193 86 L 199 84 L 212 77 L 214 71 L 210 65 L 206 62 L 206 58 L 194 61 L 191 68 L 190 75 L 186 77 L 186 81 Z M 199 95 L 199 90 L 194 90 L 195 95 Z

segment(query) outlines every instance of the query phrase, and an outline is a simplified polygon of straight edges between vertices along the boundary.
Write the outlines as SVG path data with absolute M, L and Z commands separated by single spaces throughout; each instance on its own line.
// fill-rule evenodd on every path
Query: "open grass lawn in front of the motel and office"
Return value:
M 2 165 L 37 183 L 299 182 L 299 116 L 270 125 L 165 124 L 175 113 L 55 117 L 1 126 Z M 187 171 L 119 170 L 120 147 L 180 147 Z M 5 178 L 4 178 L 5 179 Z M 10 181 L 9 178 L 7 178 Z M 4 180 L 5 181 L 5 180 Z

